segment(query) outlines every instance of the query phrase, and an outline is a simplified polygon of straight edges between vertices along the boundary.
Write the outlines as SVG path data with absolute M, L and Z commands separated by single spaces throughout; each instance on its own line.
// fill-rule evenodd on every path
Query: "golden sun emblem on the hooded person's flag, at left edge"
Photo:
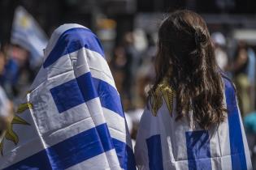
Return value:
M 23 118 L 18 116 L 18 114 L 24 113 L 24 111 L 29 109 L 29 108 L 33 108 L 33 104 L 31 104 L 31 103 L 20 104 L 20 106 L 17 110 L 17 113 L 15 113 L 11 123 L 9 125 L 7 125 L 7 129 L 4 132 L 5 134 L 3 134 L 4 137 L 2 139 L 2 142 L 0 143 L 1 155 L 2 155 L 2 151 L 3 151 L 3 142 L 5 140 L 9 140 L 9 141 L 13 142 L 15 145 L 17 145 L 18 142 L 19 142 L 19 137 L 15 133 L 15 131 L 13 130 L 13 125 L 15 125 L 15 124 L 30 125 L 27 121 L 25 121 Z

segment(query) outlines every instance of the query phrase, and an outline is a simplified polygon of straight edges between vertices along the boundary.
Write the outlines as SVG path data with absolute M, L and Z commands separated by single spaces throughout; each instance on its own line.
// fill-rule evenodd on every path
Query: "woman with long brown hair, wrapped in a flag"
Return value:
M 135 147 L 139 169 L 252 169 L 236 90 L 216 64 L 205 21 L 175 11 L 158 30 L 156 80 Z

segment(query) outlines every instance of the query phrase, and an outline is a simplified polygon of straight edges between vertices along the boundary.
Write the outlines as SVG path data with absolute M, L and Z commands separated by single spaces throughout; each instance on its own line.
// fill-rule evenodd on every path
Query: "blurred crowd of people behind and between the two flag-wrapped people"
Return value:
M 121 96 L 132 138 L 146 104 L 147 89 L 154 81 L 154 57 L 157 52 L 156 33 L 126 32 L 121 43 L 115 45 L 108 62 Z M 140 37 L 140 38 L 138 38 Z M 221 32 L 211 34 L 219 68 L 236 84 L 238 102 L 253 160 L 256 159 L 256 111 L 254 45 L 245 40 L 226 37 Z M 141 47 L 140 45 L 143 44 Z M 2 45 L 0 52 L 1 94 L 15 109 L 37 75 L 40 65 L 33 65 L 31 53 L 20 45 Z M 4 92 L 5 91 L 5 92 Z M 6 95 L 4 94 L 6 93 Z M 2 101 L 2 100 L 1 100 Z M 1 102 L 0 102 L 1 103 Z M 254 161 L 255 164 L 255 161 Z

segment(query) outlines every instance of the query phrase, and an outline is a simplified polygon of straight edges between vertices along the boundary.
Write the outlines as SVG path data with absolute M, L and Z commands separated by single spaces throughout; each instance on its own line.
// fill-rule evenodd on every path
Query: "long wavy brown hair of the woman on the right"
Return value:
M 151 91 L 171 72 L 168 80 L 176 91 L 176 120 L 193 110 L 193 119 L 202 129 L 224 121 L 227 110 L 223 105 L 222 76 L 210 33 L 200 15 L 183 10 L 163 20 L 154 65 L 156 80 Z

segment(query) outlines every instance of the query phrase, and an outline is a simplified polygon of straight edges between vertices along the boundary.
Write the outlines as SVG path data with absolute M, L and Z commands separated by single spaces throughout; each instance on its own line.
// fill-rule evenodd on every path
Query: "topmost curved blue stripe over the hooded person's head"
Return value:
M 63 57 L 63 55 L 75 52 L 83 47 L 100 53 L 104 57 L 102 45 L 93 32 L 86 28 L 72 28 L 59 36 L 54 49 L 46 57 L 46 61 L 43 64 L 44 68 L 56 62 L 59 57 Z

